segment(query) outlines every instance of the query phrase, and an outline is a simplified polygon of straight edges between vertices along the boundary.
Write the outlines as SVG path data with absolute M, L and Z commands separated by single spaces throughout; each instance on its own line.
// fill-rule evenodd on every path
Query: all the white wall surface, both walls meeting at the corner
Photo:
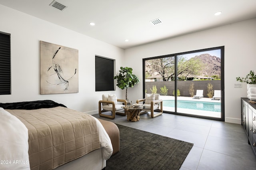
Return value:
M 50 99 L 71 109 L 98 113 L 102 93 L 95 92 L 94 56 L 116 59 L 120 66 L 133 68 L 141 83 L 128 89 L 133 103 L 142 97 L 142 58 L 225 46 L 225 120 L 240 123 L 240 97 L 246 97 L 246 84 L 234 88 L 236 77 L 256 70 L 256 18 L 204 30 L 130 49 L 120 49 L 55 24 L 0 5 L 0 31 L 11 34 L 12 95 L 0 95 L 0 103 Z M 79 93 L 40 95 L 40 40 L 78 49 Z

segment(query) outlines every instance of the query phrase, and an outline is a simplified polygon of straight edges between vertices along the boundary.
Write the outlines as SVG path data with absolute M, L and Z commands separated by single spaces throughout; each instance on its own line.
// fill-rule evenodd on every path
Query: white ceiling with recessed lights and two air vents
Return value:
M 0 4 L 123 49 L 256 18 L 256 0 L 56 0 L 62 11 L 52 1 Z

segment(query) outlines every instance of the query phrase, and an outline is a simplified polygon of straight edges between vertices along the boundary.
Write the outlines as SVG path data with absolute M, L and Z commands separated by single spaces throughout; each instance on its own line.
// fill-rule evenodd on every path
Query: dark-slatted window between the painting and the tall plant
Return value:
M 114 90 L 114 59 L 95 55 L 95 91 Z

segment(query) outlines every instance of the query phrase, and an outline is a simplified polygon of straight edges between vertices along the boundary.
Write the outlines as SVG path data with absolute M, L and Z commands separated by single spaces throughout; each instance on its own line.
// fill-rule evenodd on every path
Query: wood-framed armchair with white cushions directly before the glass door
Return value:
M 163 100 L 160 99 L 159 94 L 146 94 L 145 99 L 138 99 L 136 103 L 143 102 L 144 105 L 148 106 L 148 109 L 142 109 L 143 112 L 140 115 L 150 111 L 151 117 L 157 117 L 163 114 Z M 159 109 L 160 112 L 154 114 L 154 110 Z

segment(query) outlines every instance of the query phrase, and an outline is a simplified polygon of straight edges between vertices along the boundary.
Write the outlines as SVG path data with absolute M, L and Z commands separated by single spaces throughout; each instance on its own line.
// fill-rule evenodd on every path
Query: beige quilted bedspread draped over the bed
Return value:
M 65 107 L 9 110 L 28 128 L 31 170 L 50 170 L 100 148 L 96 121 Z

